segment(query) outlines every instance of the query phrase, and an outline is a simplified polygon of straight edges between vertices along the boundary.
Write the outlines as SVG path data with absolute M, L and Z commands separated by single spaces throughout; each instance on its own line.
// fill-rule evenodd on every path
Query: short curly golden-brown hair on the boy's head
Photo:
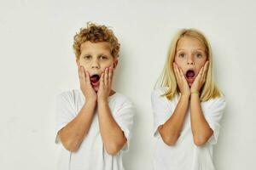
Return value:
M 80 31 L 73 37 L 73 50 L 76 54 L 76 59 L 79 59 L 81 54 L 81 44 L 87 41 L 90 42 L 109 42 L 111 54 L 114 58 L 119 57 L 120 44 L 113 31 L 107 26 L 97 25 L 88 22 L 86 27 L 80 28 Z

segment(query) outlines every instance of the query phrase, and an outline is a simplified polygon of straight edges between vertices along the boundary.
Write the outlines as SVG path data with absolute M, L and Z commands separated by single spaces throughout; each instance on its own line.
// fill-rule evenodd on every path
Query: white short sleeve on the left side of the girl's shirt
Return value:
M 154 137 L 160 137 L 158 127 L 164 124 L 171 116 L 173 111 L 172 101 L 166 99 L 159 89 L 151 93 L 151 105 L 154 115 Z

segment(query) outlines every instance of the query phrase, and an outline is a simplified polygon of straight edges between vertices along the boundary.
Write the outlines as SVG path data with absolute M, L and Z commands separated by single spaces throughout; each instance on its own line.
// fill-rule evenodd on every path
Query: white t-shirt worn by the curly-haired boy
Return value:
M 61 144 L 57 133 L 68 122 L 78 115 L 84 105 L 84 94 L 80 89 L 62 92 L 56 97 L 56 138 L 55 143 L 60 145 L 58 169 L 60 170 L 123 170 L 122 152 L 128 150 L 131 139 L 134 106 L 124 95 L 115 93 L 108 97 L 108 105 L 114 120 L 125 133 L 127 142 L 122 150 L 114 156 L 108 154 L 102 143 L 99 130 L 97 112 L 93 117 L 90 129 L 84 137 L 79 150 L 71 152 Z

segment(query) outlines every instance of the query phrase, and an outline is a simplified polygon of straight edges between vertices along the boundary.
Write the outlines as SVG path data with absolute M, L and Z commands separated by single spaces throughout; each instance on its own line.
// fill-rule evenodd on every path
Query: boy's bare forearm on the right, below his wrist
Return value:
M 115 122 L 107 100 L 98 101 L 99 127 L 108 154 L 116 154 L 126 142 L 125 134 Z

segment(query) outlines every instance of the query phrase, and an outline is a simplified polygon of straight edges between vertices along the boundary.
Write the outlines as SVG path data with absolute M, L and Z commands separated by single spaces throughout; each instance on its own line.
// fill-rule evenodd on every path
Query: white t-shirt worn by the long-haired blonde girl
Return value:
M 183 128 L 176 144 L 169 146 L 164 143 L 158 132 L 158 127 L 172 116 L 180 95 L 171 100 L 160 95 L 167 88 L 157 88 L 151 94 L 154 111 L 154 170 L 214 170 L 212 160 L 212 146 L 217 143 L 220 120 L 224 112 L 225 99 L 209 99 L 201 103 L 203 114 L 212 128 L 212 137 L 202 146 L 194 144 L 190 126 L 190 105 L 186 113 Z

